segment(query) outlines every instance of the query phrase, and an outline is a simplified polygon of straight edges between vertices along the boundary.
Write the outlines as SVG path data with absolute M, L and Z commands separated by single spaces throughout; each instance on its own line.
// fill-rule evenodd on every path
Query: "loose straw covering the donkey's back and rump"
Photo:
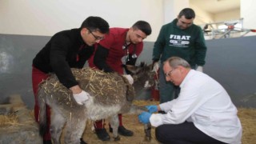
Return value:
M 102 104 L 111 99 L 112 104 L 113 102 L 119 103 L 120 93 L 122 93 L 123 96 L 134 98 L 134 87 L 120 74 L 104 73 L 102 70 L 89 68 L 83 68 L 82 70 L 72 69 L 72 73 L 82 90 L 93 95 L 98 102 Z M 41 83 L 40 89 L 50 97 L 54 96 L 55 99 L 58 99 L 59 103 L 70 105 L 73 102 L 71 91 L 63 86 L 54 74 L 51 75 L 50 78 L 47 78 L 45 82 Z

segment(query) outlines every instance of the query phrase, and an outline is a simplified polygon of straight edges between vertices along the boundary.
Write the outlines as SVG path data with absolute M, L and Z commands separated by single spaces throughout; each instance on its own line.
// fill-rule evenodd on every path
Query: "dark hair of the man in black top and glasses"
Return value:
M 82 22 L 80 27 L 87 28 L 91 31 L 99 31 L 102 34 L 107 34 L 110 31 L 110 26 L 103 18 L 90 16 Z

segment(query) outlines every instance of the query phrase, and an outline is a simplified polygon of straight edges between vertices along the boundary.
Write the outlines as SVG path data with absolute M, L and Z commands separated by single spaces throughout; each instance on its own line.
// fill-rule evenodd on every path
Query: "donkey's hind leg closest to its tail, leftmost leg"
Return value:
M 65 125 L 65 118 L 62 117 L 62 114 L 54 111 L 51 114 L 51 122 L 50 122 L 50 134 L 51 138 L 54 141 L 54 144 L 61 143 L 60 137 L 62 134 L 63 126 Z

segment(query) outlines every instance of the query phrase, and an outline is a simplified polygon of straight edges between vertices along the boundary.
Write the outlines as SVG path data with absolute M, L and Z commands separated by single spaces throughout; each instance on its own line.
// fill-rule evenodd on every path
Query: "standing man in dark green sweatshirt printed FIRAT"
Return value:
M 162 62 L 172 56 L 184 58 L 193 69 L 202 71 L 206 58 L 206 44 L 202 29 L 193 24 L 195 18 L 194 10 L 183 9 L 178 18 L 170 22 L 160 30 L 157 41 L 154 43 L 153 64 L 154 70 L 159 70 L 159 92 L 160 103 L 168 102 L 178 97 L 179 88 L 171 82 L 166 82 L 162 71 Z M 175 93 L 174 93 L 175 92 Z M 174 96 L 173 96 L 174 94 Z

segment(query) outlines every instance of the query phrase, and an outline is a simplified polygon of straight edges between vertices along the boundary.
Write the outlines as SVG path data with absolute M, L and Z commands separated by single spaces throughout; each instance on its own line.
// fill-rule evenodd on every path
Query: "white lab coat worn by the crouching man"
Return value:
M 203 133 L 221 142 L 241 143 L 242 126 L 237 108 L 226 90 L 213 78 L 190 70 L 178 98 L 160 104 L 167 114 L 152 114 L 152 126 L 194 122 Z

